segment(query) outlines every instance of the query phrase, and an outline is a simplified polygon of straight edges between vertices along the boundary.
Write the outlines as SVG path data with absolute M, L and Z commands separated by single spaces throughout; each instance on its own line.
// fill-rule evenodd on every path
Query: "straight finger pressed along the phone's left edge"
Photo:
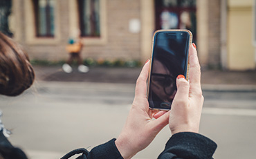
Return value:
M 147 77 L 149 75 L 149 60 L 143 66 L 138 76 L 135 88 L 135 97 L 147 97 Z

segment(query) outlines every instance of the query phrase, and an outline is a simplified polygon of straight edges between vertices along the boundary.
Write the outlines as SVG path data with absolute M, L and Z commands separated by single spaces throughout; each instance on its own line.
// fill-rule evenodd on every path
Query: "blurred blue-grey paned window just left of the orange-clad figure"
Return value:
M 37 37 L 54 37 L 55 0 L 34 0 Z

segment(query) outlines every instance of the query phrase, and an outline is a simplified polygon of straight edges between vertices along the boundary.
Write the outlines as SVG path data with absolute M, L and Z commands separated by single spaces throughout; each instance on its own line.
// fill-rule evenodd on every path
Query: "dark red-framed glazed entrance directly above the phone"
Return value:
M 155 0 L 156 30 L 188 29 L 196 39 L 196 0 Z

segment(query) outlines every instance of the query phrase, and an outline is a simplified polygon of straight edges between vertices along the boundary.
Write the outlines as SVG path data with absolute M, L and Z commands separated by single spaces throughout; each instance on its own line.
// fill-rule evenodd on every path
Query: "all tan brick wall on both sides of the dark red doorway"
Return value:
M 21 20 L 21 40 L 19 41 L 28 50 L 30 59 L 62 60 L 68 58 L 66 53 L 66 41 L 68 40 L 70 25 L 70 8 L 68 0 L 57 0 L 58 25 L 60 25 L 60 39 L 56 44 L 28 44 L 26 42 L 26 17 L 24 17 L 24 1 L 15 0 L 21 5 L 20 14 L 16 15 Z M 203 1 L 203 0 L 202 0 Z M 220 65 L 220 1 L 208 0 L 208 53 L 206 65 L 217 68 Z M 93 57 L 94 59 L 141 59 L 141 33 L 129 32 L 129 20 L 141 19 L 142 6 L 138 0 L 106 0 L 106 42 L 100 45 L 88 44 L 82 50 L 82 57 Z M 152 10 L 154 12 L 154 10 Z M 154 19 L 154 17 L 152 17 Z M 204 25 L 204 24 L 198 24 Z M 146 26 L 143 26 L 147 28 Z M 141 28 L 143 29 L 143 28 Z M 141 31 L 140 31 L 141 32 Z M 151 39 L 150 39 L 151 41 Z

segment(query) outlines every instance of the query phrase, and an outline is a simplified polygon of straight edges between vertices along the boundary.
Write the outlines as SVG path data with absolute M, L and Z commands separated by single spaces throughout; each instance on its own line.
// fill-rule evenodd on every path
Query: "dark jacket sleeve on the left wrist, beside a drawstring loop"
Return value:
M 88 159 L 123 159 L 115 144 L 116 139 L 100 144 L 89 152 Z

